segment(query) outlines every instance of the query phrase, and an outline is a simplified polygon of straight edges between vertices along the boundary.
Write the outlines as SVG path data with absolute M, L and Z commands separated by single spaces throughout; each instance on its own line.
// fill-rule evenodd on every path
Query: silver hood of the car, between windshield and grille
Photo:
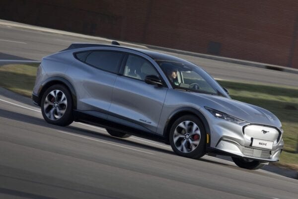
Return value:
M 202 98 L 201 100 L 204 101 L 204 105 L 201 104 L 201 108 L 207 106 L 249 123 L 270 125 L 278 128 L 281 127 L 280 120 L 272 112 L 264 108 L 220 96 L 205 94 L 195 95 L 199 96 Z

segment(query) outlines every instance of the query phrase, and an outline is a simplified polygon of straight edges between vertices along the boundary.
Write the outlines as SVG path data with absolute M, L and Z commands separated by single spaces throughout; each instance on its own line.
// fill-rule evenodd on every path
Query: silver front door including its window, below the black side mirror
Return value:
M 145 83 L 147 75 L 160 77 L 149 60 L 128 54 L 122 66 L 122 76 L 118 76 L 109 109 L 110 120 L 122 121 L 124 124 L 140 130 L 155 132 L 158 125 L 167 87 L 158 87 Z M 117 118 L 122 118 L 119 120 Z

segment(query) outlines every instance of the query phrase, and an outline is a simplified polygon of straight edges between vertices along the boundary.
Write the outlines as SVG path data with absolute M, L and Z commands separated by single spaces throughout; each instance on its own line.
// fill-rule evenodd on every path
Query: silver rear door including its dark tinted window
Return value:
M 113 85 L 119 73 L 124 53 L 108 50 L 92 50 L 75 54 L 77 62 L 70 77 L 75 77 L 78 94 L 77 109 L 88 114 L 107 118 L 112 101 Z

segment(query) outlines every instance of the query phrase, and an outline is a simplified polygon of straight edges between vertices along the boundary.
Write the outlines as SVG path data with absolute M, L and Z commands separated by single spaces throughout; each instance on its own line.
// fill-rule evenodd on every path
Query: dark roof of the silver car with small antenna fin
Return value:
M 119 45 L 107 45 L 107 44 L 96 44 L 96 43 L 73 43 L 71 44 L 67 49 L 64 49 L 62 51 L 66 50 L 73 50 L 73 49 L 80 49 L 80 48 L 88 48 L 88 47 L 113 47 L 113 48 L 122 48 L 122 49 L 131 49 L 138 52 L 142 52 L 149 57 L 151 57 L 153 60 L 164 60 L 164 61 L 173 61 L 173 62 L 181 62 L 185 63 L 186 61 L 183 59 L 180 59 L 175 56 L 167 55 L 164 53 L 159 53 L 155 51 L 140 49 L 140 48 L 131 48 L 126 46 L 119 46 Z

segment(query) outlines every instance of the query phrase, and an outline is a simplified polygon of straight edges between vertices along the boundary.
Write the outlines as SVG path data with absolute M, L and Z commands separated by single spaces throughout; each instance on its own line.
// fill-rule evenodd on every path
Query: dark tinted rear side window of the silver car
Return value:
M 88 51 L 77 53 L 75 56 L 80 61 L 90 64 L 91 66 L 117 73 L 124 54 L 112 51 Z

